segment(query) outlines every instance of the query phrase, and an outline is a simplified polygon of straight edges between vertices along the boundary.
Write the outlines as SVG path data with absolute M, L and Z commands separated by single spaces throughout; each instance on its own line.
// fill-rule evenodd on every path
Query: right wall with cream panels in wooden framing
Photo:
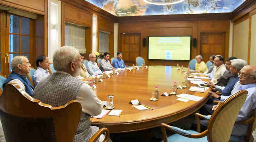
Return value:
M 232 56 L 237 56 L 248 62 L 248 64 L 256 65 L 255 56 L 255 23 L 253 17 L 256 14 L 256 1 L 246 7 L 245 10 L 236 13 L 232 19 L 233 27 L 233 47 Z

